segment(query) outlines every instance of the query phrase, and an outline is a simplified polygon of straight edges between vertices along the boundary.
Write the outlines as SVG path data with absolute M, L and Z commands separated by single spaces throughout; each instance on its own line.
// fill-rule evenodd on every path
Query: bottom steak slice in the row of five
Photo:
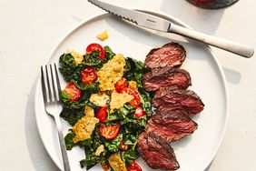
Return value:
M 171 171 L 180 167 L 172 146 L 153 132 L 143 132 L 139 136 L 137 150 L 143 160 L 152 168 Z

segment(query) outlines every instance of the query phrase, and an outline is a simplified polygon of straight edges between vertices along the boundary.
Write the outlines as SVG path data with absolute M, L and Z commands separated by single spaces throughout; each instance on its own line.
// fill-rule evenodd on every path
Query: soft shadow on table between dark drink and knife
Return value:
M 182 20 L 192 28 L 204 33 L 214 35 L 222 21 L 223 9 L 202 9 L 185 0 L 162 1 L 161 11 Z

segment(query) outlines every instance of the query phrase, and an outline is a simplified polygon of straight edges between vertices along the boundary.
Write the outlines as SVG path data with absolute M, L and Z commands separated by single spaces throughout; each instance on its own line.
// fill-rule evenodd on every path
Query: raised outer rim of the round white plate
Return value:
M 167 15 L 165 13 L 162 13 L 162 12 L 159 12 L 159 11 L 153 11 L 152 9 L 148 9 L 148 8 L 131 8 L 133 10 L 137 10 L 137 11 L 141 11 L 141 12 L 144 12 L 144 13 L 149 13 L 151 15 L 157 15 L 157 16 L 160 16 L 160 17 L 163 17 L 163 18 L 166 18 L 168 20 L 172 20 L 172 21 L 175 21 L 178 25 L 182 25 L 186 28 L 190 28 L 192 29 L 192 27 L 190 25 L 187 25 L 186 23 L 182 22 L 180 19 L 177 19 L 176 17 L 172 16 L 172 15 Z M 94 20 L 95 18 L 97 17 L 102 17 L 103 15 L 110 15 L 109 13 L 107 12 L 101 12 L 101 13 L 98 13 L 98 14 L 94 14 L 94 15 L 91 15 L 90 17 L 86 17 L 84 18 L 82 21 L 80 21 L 77 25 L 74 25 L 73 28 L 71 28 L 70 30 L 68 30 L 66 32 L 66 34 L 64 34 L 64 36 L 62 36 L 62 38 L 60 38 L 60 40 L 58 41 L 58 43 L 54 46 L 54 48 L 50 51 L 51 53 L 49 55 L 47 55 L 47 57 L 45 58 L 45 64 L 49 64 L 49 62 L 51 61 L 53 55 L 54 55 L 54 52 L 55 50 L 64 42 L 65 38 L 67 38 L 69 35 L 72 35 L 74 33 L 75 30 L 79 29 L 82 25 L 86 25 L 86 23 L 89 23 L 90 21 Z M 217 67 L 219 68 L 219 74 L 221 75 L 221 80 L 222 80 L 222 86 L 223 86 L 223 92 L 224 92 L 224 97 L 225 97 L 225 122 L 224 122 L 224 125 L 223 125 L 223 129 L 222 129 L 222 135 L 220 136 L 221 138 L 219 138 L 218 140 L 218 145 L 215 147 L 215 149 L 213 150 L 214 152 L 212 153 L 212 156 L 210 157 L 211 160 L 208 161 L 208 162 L 205 162 L 205 165 L 203 166 L 203 169 L 206 169 L 208 166 L 211 165 L 213 159 L 214 159 L 214 156 L 216 156 L 218 150 L 220 149 L 220 146 L 222 145 L 222 141 L 223 141 L 223 138 L 224 138 L 224 135 L 225 135 L 225 132 L 226 132 L 226 129 L 227 129 L 227 124 L 228 124 L 228 118 L 229 118 L 229 104 L 230 104 L 230 99 L 229 99 L 229 96 L 228 96 L 228 87 L 227 87 L 227 80 L 226 80 L 226 77 L 224 75 L 224 72 L 223 72 L 223 69 L 222 69 L 222 65 L 220 63 L 220 61 L 218 60 L 218 58 L 216 58 L 216 55 L 214 55 L 213 51 L 212 51 L 212 48 L 209 46 L 209 45 L 206 45 L 204 43 L 202 43 L 202 45 L 205 45 L 206 49 L 209 51 L 209 53 L 212 55 L 213 59 L 212 61 L 215 62 L 215 65 L 217 65 Z M 62 162 L 60 163 L 59 165 L 59 160 L 58 158 L 54 158 L 54 156 L 50 153 L 49 149 L 46 147 L 46 143 L 44 142 L 44 138 L 42 137 L 42 130 L 40 129 L 39 127 L 39 120 L 38 120 L 38 117 L 36 115 L 36 111 L 37 111 L 37 102 L 38 102 L 38 88 L 40 88 L 40 73 L 37 75 L 37 78 L 36 78 L 36 86 L 35 86 L 35 93 L 34 93 L 34 115 L 35 115 L 35 121 L 36 121 L 36 127 L 37 127 L 37 130 L 39 132 L 39 136 L 41 138 L 41 141 L 44 145 L 44 149 L 47 151 L 47 154 L 51 157 L 51 159 L 53 160 L 54 162 L 54 165 L 57 166 L 59 169 L 62 170 L 63 168 L 63 164 Z

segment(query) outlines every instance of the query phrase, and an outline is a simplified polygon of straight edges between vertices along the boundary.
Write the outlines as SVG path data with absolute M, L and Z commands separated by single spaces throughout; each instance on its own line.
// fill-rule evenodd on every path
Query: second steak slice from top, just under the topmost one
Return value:
M 161 87 L 177 85 L 181 88 L 187 88 L 192 85 L 190 74 L 184 69 L 172 68 L 161 75 L 154 72 L 148 72 L 143 76 L 143 87 L 148 91 L 156 91 Z M 155 76 L 154 76 L 155 75 Z

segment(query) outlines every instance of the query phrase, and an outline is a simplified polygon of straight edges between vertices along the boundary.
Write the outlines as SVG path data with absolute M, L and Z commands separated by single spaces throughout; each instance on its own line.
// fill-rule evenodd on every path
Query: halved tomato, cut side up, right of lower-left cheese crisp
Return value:
M 119 131 L 120 131 L 119 124 L 116 124 L 113 126 L 103 126 L 103 125 L 100 126 L 101 135 L 108 140 L 115 138 L 119 134 Z

